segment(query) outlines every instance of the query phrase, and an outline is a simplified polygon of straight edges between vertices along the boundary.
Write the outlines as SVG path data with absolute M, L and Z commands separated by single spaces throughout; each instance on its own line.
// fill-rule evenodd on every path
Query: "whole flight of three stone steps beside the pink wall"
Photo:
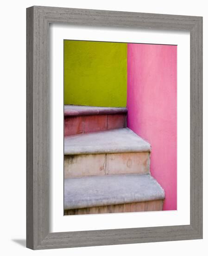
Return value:
M 64 106 L 64 215 L 163 209 L 151 146 L 126 128 L 126 108 Z

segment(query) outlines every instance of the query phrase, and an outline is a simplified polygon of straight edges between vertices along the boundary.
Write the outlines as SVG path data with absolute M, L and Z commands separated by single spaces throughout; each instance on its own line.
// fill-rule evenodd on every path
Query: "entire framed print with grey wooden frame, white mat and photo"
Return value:
M 202 17 L 27 8 L 27 247 L 202 238 Z

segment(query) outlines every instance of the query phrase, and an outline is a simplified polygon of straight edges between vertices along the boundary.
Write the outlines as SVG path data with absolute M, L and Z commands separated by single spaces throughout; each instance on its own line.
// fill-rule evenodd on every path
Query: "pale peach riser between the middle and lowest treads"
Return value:
M 114 174 L 145 174 L 150 153 L 64 155 L 64 178 Z

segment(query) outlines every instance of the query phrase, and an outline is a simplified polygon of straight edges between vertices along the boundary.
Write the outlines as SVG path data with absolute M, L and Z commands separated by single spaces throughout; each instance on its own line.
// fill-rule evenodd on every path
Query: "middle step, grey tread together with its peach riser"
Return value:
M 65 137 L 64 178 L 149 173 L 150 149 L 128 128 Z

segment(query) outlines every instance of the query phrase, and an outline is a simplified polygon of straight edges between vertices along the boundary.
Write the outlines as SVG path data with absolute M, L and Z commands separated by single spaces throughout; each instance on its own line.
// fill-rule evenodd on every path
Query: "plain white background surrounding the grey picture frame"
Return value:
M 0 252 L 2 255 L 206 255 L 208 243 L 208 88 L 204 86 L 204 239 L 163 243 L 113 245 L 91 248 L 32 251 L 25 248 L 25 8 L 33 5 L 91 8 L 144 13 L 203 16 L 204 84 L 208 84 L 208 14 L 206 1 L 95 1 L 27 0 L 4 1 L 0 15 Z M 204 251 L 204 252 L 203 252 Z

